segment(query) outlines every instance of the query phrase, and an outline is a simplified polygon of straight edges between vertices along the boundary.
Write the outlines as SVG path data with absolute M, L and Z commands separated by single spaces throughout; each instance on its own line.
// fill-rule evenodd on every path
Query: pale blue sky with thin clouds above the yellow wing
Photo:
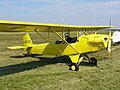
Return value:
M 120 27 L 120 0 L 0 0 L 0 20 Z

